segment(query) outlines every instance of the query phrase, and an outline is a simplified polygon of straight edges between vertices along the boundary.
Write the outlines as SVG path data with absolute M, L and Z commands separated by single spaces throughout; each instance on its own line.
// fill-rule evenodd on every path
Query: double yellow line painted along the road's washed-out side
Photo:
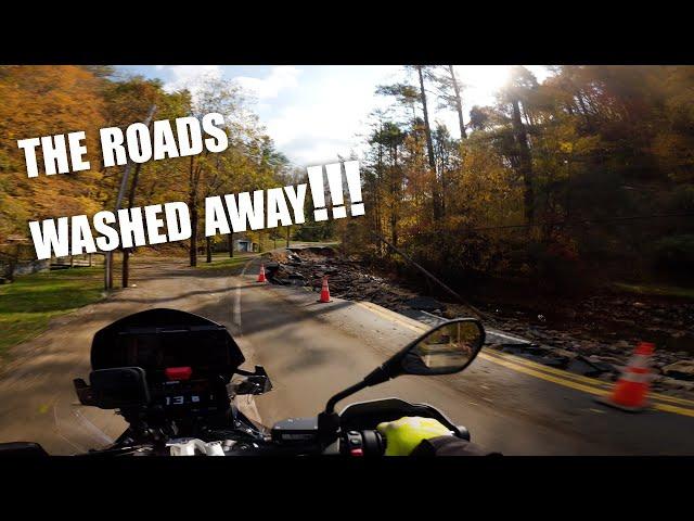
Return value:
M 381 317 L 400 323 L 401 326 L 416 331 L 417 333 L 424 333 L 428 330 L 428 328 L 424 325 L 413 325 L 414 320 L 408 320 L 406 317 L 401 317 L 399 314 L 391 312 L 390 309 L 382 308 L 381 306 L 375 306 L 370 302 L 357 302 L 357 305 L 363 307 L 364 309 L 369 309 Z M 498 364 L 500 366 L 506 367 L 507 369 L 512 369 L 517 372 L 523 372 L 524 374 L 528 374 L 530 377 L 539 378 L 541 380 L 555 383 L 557 385 L 563 385 L 565 387 L 570 387 L 576 391 L 581 391 L 588 394 L 596 395 L 596 396 L 606 396 L 609 394 L 609 384 L 606 382 L 601 382 L 600 380 L 595 380 L 592 378 L 583 377 L 581 374 L 573 374 L 567 371 L 563 371 L 561 369 L 556 369 L 549 366 L 543 366 L 541 364 L 534 363 L 531 360 L 526 360 L 520 357 L 516 357 L 513 355 L 509 355 L 506 353 L 501 353 L 497 351 L 485 351 L 480 352 L 478 355 L 481 359 L 491 361 L 493 364 Z M 650 397 L 654 401 L 661 402 L 670 402 L 674 404 L 681 404 L 686 406 L 694 406 L 694 402 L 683 398 L 676 398 L 672 396 L 665 396 L 661 394 L 651 393 Z M 678 415 L 691 416 L 694 417 L 694 409 L 677 407 L 672 405 L 666 404 L 652 404 L 652 407 L 658 410 L 664 410 L 666 412 L 674 412 Z

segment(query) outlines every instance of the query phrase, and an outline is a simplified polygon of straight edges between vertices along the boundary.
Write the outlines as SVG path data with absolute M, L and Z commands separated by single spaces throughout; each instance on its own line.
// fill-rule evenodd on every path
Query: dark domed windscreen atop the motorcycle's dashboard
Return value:
M 224 326 L 177 309 L 121 318 L 98 331 L 91 345 L 93 370 L 141 367 L 147 377 L 172 367 L 231 377 L 244 361 Z

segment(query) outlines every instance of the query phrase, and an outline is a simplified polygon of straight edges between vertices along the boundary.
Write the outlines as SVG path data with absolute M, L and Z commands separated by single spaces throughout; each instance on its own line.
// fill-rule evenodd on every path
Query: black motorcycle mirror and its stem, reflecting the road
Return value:
M 369 373 L 361 382 L 334 395 L 325 405 L 332 415 L 343 398 L 402 374 L 451 374 L 465 369 L 485 343 L 485 328 L 474 318 L 455 318 L 430 329 Z

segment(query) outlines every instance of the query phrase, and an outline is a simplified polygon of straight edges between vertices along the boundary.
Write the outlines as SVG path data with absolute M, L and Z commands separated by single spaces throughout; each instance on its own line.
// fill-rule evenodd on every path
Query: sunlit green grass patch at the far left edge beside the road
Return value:
M 44 331 L 51 318 L 102 297 L 100 266 L 20 276 L 0 285 L 0 356 Z

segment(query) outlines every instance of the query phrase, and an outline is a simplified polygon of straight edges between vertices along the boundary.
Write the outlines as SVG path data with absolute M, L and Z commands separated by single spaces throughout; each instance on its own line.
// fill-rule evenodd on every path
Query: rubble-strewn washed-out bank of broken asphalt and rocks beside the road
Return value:
M 421 289 L 427 287 L 423 280 L 408 284 L 331 247 L 287 249 L 271 256 L 267 269 L 273 283 L 320 291 L 326 276 L 332 296 L 370 301 L 404 314 L 471 315 L 463 304 L 429 296 Z M 486 313 L 490 327 L 531 342 L 498 348 L 605 381 L 617 379 L 639 341 L 655 342 L 654 390 L 694 395 L 694 304 L 624 295 L 570 302 L 535 298 L 528 306 L 479 298 L 474 304 Z

